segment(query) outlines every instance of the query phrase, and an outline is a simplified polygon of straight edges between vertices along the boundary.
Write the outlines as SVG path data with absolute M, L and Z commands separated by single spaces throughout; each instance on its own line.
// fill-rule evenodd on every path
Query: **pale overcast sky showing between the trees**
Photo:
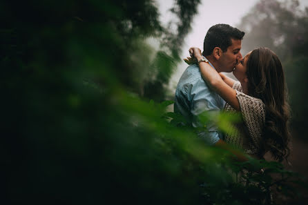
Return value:
M 173 6 L 173 0 L 156 0 L 160 9 L 160 20 L 163 23 L 168 22 L 173 16 L 169 9 Z M 192 30 L 183 41 L 182 57 L 187 57 L 188 50 L 191 46 L 203 47 L 203 40 L 207 30 L 217 23 L 227 23 L 236 26 L 240 23 L 240 19 L 259 0 L 202 0 L 198 6 L 198 14 L 193 18 Z M 305 8 L 308 6 L 308 0 L 300 0 L 300 6 Z M 243 55 L 245 55 L 243 53 Z M 184 63 L 177 66 L 177 70 L 173 74 L 170 81 L 171 90 L 175 89 L 177 81 L 180 79 L 187 65 Z

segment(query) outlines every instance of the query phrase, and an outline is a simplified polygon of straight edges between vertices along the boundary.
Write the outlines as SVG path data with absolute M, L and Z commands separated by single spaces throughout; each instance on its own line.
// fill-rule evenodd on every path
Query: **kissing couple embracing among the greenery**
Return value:
M 217 24 L 206 33 L 203 52 L 189 49 L 191 57 L 184 61 L 190 66 L 177 84 L 174 111 L 195 128 L 204 128 L 198 118 L 204 111 L 240 113 L 242 123 L 232 124 L 224 135 L 215 124 L 206 124 L 198 135 L 207 144 L 223 148 L 229 144 L 256 159 L 264 159 L 270 152 L 282 162 L 290 153 L 289 104 L 282 64 L 269 48 L 256 48 L 242 57 L 243 37 L 238 28 Z M 238 81 L 222 72 L 233 72 Z

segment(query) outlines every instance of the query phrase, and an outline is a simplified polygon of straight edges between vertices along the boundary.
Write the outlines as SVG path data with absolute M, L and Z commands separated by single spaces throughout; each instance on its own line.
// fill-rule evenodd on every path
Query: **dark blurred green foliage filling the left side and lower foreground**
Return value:
M 272 186 L 298 194 L 280 164 L 251 162 L 267 172 L 238 182 L 247 164 L 174 126 L 172 102 L 148 102 L 164 99 L 198 3 L 175 1 L 172 33 L 150 0 L 1 1 L 3 204 L 268 204 Z

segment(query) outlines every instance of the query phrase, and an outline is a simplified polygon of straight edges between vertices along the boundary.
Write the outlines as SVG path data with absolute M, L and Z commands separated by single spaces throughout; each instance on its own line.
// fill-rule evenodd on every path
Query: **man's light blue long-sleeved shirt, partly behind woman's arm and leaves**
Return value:
M 214 68 L 211 63 L 209 64 Z M 186 68 L 175 90 L 175 113 L 183 115 L 194 128 L 204 128 L 204 124 L 198 120 L 198 115 L 206 110 L 210 113 L 219 113 L 225 104 L 224 99 L 211 90 L 202 79 L 197 64 Z M 198 135 L 211 145 L 222 139 L 217 126 L 213 123 L 206 124 L 206 130 L 199 132 Z

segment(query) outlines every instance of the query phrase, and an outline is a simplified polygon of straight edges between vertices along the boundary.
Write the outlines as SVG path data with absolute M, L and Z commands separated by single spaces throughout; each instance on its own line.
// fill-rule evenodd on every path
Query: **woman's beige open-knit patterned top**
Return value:
M 233 89 L 240 104 L 242 122 L 231 124 L 224 140 L 236 148 L 242 148 L 247 154 L 262 156 L 265 153 L 262 146 L 265 105 L 261 99 L 244 94 L 239 81 L 233 84 Z M 224 110 L 229 113 L 238 112 L 228 103 Z

